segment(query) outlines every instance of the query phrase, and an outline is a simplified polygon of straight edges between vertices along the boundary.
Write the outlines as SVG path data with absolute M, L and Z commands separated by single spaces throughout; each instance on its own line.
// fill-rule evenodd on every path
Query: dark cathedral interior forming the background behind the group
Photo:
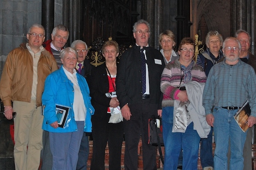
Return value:
M 26 32 L 34 23 L 44 26 L 45 40 L 51 38 L 54 26 L 67 26 L 65 47 L 74 40 L 83 40 L 90 49 L 87 59 L 94 66 L 104 62 L 101 47 L 109 38 L 118 42 L 119 57 L 134 45 L 132 26 L 139 19 L 149 22 L 149 45 L 156 49 L 160 49 L 158 37 L 164 30 L 176 35 L 176 44 L 184 37 L 195 39 L 198 35 L 204 45 L 210 30 L 218 31 L 225 39 L 243 29 L 251 37 L 250 51 L 256 54 L 255 7 L 256 0 L 0 0 L 0 71 L 8 53 L 27 42 Z M 1 113 L 0 170 L 14 168 L 11 124 Z M 254 144 L 256 132 L 252 141 L 252 166 L 256 169 Z

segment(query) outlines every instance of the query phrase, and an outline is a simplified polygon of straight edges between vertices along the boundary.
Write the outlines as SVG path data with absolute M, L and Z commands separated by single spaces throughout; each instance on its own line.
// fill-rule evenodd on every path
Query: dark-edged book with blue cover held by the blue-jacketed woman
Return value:
M 42 105 L 41 115 L 44 115 L 44 108 L 45 108 L 45 105 Z M 59 127 L 61 127 L 61 128 L 65 127 L 66 119 L 67 119 L 68 112 L 70 109 L 71 109 L 71 107 L 56 104 L 55 112 L 56 112 L 56 116 L 58 119 Z

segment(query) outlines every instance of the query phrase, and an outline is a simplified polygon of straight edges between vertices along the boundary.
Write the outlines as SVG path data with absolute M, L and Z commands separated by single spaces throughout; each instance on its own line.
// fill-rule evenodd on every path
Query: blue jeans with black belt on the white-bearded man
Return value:
M 228 169 L 228 141 L 230 140 L 230 170 L 243 169 L 243 148 L 246 139 L 246 132 L 243 132 L 234 119 L 236 110 L 223 109 L 221 107 L 214 107 L 214 138 L 215 138 L 215 152 L 214 152 L 214 169 L 227 170 Z

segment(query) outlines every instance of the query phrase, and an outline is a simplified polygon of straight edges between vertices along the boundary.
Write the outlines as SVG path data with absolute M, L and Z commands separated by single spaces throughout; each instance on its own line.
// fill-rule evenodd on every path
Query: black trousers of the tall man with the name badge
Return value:
M 138 142 L 142 136 L 143 169 L 156 170 L 156 146 L 148 144 L 148 119 L 157 116 L 157 104 L 149 103 L 149 99 L 142 99 L 142 104 L 129 105 L 131 118 L 124 120 L 125 137 L 125 170 L 138 169 Z

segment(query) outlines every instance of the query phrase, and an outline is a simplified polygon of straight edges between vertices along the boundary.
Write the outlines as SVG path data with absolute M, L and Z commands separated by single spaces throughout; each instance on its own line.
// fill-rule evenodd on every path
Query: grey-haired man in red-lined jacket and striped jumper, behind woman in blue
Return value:
M 50 53 L 52 53 L 59 68 L 62 65 L 62 62 L 60 61 L 60 50 L 67 43 L 68 36 L 69 36 L 68 28 L 60 24 L 54 27 L 54 29 L 52 30 L 52 34 L 51 34 L 52 39 L 47 40 L 43 44 L 45 49 Z

